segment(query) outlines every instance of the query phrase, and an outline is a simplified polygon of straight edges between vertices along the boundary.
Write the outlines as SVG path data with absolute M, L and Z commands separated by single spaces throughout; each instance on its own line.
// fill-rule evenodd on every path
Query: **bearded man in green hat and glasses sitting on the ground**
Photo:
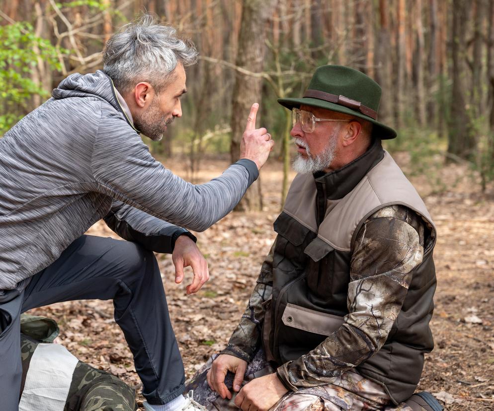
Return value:
M 240 324 L 189 384 L 209 409 L 440 409 L 428 393 L 403 404 L 433 347 L 436 231 L 381 146 L 396 132 L 376 120 L 380 97 L 365 74 L 324 66 L 303 98 L 278 100 L 299 174 Z

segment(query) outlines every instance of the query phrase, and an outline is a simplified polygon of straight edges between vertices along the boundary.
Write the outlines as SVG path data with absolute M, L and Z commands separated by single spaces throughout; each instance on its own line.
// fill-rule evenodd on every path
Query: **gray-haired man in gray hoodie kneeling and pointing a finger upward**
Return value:
M 187 293 L 196 292 L 207 264 L 194 237 L 173 224 L 202 231 L 230 212 L 273 146 L 266 129 L 255 129 L 253 105 L 242 159 L 209 183 L 186 183 L 150 155 L 139 133 L 159 139 L 182 115 L 184 67 L 196 55 L 145 16 L 108 41 L 103 71 L 67 77 L 0 140 L 2 410 L 18 408 L 20 313 L 85 298 L 113 299 L 147 407 L 194 408 L 181 395 L 183 365 L 153 251 L 173 252 L 175 282 L 191 266 Z M 83 235 L 100 218 L 130 241 Z M 61 381 L 37 410 L 63 410 L 68 389 Z

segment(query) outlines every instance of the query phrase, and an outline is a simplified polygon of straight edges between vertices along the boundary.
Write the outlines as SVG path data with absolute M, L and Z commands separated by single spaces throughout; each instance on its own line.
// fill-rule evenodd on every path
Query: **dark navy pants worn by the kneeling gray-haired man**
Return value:
M 115 321 L 134 355 L 150 404 L 165 404 L 182 394 L 183 364 L 154 254 L 132 242 L 83 235 L 34 275 L 20 295 L 0 303 L 1 410 L 18 409 L 20 314 L 80 299 L 113 300 Z

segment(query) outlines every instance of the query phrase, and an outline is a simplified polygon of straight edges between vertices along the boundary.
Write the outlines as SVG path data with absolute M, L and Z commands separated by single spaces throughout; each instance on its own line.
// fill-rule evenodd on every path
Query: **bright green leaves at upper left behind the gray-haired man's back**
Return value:
M 38 59 L 47 63 L 48 69 L 60 69 L 60 64 L 57 49 L 35 36 L 27 22 L 0 26 L 0 43 L 0 96 L 5 113 L 0 115 L 1 136 L 28 111 L 33 94 L 49 95 L 31 78 Z

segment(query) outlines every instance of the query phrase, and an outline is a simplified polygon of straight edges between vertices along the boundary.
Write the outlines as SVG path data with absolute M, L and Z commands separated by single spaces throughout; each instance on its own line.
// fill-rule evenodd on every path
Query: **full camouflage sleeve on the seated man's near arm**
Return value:
M 354 243 L 344 324 L 306 355 L 280 366 L 283 384 L 293 391 L 322 385 L 379 351 L 423 249 L 424 221 L 409 208 L 387 206 L 369 217 Z

